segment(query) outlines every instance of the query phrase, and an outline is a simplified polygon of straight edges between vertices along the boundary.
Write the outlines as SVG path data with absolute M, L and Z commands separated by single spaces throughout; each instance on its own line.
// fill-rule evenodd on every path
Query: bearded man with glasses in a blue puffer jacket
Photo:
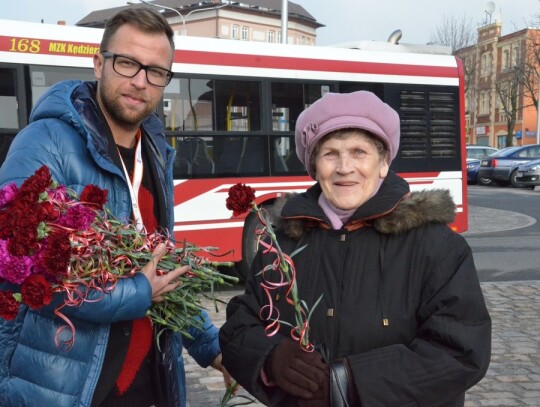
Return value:
M 61 82 L 36 103 L 0 169 L 0 185 L 21 184 L 46 165 L 77 193 L 88 184 L 107 189 L 117 218 L 172 230 L 174 153 L 153 112 L 173 56 L 173 31 L 159 13 L 119 12 L 94 56 L 97 82 Z M 163 254 L 161 246 L 153 252 L 156 260 Z M 218 334 L 203 312 L 204 329 L 192 329 L 190 339 L 161 336 L 158 350 L 145 313 L 187 267 L 158 276 L 156 264 L 119 280 L 100 301 L 65 307 L 77 334 L 70 350 L 55 346 L 52 314 L 21 307 L 15 321 L 2 321 L 0 406 L 184 406 L 182 345 L 201 366 L 222 370 Z

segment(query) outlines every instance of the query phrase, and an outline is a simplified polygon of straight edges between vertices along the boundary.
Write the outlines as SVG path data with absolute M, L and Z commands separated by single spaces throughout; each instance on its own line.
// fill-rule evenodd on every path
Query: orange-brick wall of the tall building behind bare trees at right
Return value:
M 522 75 L 532 38 L 539 39 L 540 30 L 525 29 L 501 36 L 501 28 L 499 22 L 480 27 L 477 43 L 457 51 L 465 70 L 467 141 L 469 144 L 506 147 L 507 119 L 497 84 L 515 81 L 518 98 L 512 145 L 534 144 L 537 140 L 537 110 L 519 75 Z M 540 41 L 536 44 L 540 45 Z

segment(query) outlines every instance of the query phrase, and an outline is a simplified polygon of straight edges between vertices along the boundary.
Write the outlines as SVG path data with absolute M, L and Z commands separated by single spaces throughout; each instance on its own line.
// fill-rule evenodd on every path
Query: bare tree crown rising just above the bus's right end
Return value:
M 477 27 L 478 23 L 465 15 L 444 14 L 441 25 L 431 33 L 431 42 L 450 47 L 455 53 L 476 42 Z

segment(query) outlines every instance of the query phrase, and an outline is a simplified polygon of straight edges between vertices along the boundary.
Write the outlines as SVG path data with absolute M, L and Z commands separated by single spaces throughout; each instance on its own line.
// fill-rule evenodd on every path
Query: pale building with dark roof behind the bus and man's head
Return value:
M 155 7 L 179 35 L 281 43 L 281 0 L 159 0 L 96 10 L 76 25 L 103 27 L 126 7 Z M 324 27 L 302 6 L 288 2 L 287 43 L 315 45 L 317 28 Z

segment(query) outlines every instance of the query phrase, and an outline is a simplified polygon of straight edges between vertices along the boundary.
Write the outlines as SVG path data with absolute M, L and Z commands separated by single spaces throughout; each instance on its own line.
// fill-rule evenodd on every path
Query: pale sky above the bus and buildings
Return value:
M 126 0 L 1 0 L 0 19 L 74 25 L 93 10 L 119 7 Z M 136 0 L 134 0 L 136 1 Z M 540 14 L 540 0 L 294 0 L 325 27 L 317 30 L 317 45 L 355 40 L 386 41 L 396 29 L 402 43 L 425 44 L 445 16 L 486 23 L 487 4 L 494 4 L 491 21 L 502 21 L 503 35 L 531 25 Z M 536 20 L 538 21 L 538 19 Z M 483 24 L 482 24 L 483 25 Z

